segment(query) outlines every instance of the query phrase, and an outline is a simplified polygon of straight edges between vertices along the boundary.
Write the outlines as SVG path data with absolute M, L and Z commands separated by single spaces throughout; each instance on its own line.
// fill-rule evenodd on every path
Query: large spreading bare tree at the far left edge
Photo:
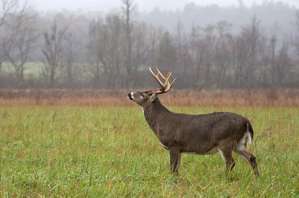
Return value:
M 4 24 L 7 33 L 2 39 L 3 52 L 14 68 L 17 86 L 24 83 L 24 71 L 30 67 L 28 61 L 39 37 L 36 16 L 33 6 L 17 1 Z

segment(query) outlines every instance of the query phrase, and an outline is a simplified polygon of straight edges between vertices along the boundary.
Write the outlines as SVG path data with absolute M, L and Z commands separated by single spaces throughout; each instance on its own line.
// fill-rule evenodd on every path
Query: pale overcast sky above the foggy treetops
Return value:
M 23 0 L 25 1 L 25 0 Z M 192 0 L 135 0 L 138 4 L 138 9 L 142 10 L 153 10 L 155 6 L 158 6 L 161 10 L 176 10 L 178 7 L 184 7 L 186 3 Z M 278 0 L 273 0 L 278 1 Z M 299 0 L 282 0 L 283 2 L 289 3 L 299 7 Z M 112 7 L 119 7 L 122 0 L 29 0 L 36 5 L 39 10 L 61 10 L 66 8 L 68 10 L 103 10 L 108 11 Z M 232 4 L 238 5 L 237 0 L 194 0 L 196 4 L 218 4 L 221 6 L 229 6 Z M 246 5 L 251 5 L 253 2 L 261 3 L 263 0 L 243 0 Z

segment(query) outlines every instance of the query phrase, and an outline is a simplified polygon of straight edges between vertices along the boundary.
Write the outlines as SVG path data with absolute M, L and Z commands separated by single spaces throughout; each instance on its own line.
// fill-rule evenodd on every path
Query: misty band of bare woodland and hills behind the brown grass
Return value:
M 299 10 L 282 2 L 148 13 L 133 0 L 109 13 L 1 7 L 0 88 L 155 88 L 150 66 L 172 70 L 176 89 L 299 87 Z

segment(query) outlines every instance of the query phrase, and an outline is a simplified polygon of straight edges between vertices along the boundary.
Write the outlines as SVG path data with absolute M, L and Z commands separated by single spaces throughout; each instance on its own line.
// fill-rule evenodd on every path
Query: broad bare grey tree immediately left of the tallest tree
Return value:
M 92 22 L 89 27 L 89 51 L 95 63 L 95 86 L 99 84 L 99 74 L 102 71 L 107 77 L 109 88 L 115 88 L 120 84 L 119 74 L 123 73 L 123 23 L 116 15 L 109 15 L 105 23 L 99 19 Z

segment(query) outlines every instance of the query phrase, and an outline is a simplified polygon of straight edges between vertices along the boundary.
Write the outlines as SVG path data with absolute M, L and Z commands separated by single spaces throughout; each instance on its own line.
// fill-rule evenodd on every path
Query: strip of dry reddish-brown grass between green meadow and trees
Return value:
M 0 89 L 0 106 L 132 106 L 127 89 Z M 159 96 L 173 106 L 298 107 L 299 89 L 173 89 Z

